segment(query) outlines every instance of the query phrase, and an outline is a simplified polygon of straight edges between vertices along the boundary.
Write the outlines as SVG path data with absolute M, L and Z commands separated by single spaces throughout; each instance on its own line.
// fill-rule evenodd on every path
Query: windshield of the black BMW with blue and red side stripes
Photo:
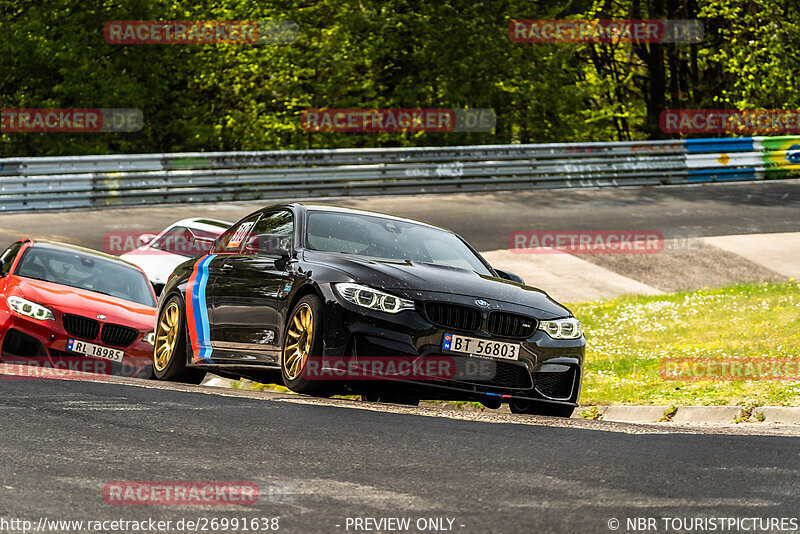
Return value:
M 308 247 L 385 260 L 413 261 L 491 273 L 455 234 L 422 224 L 354 213 L 312 212 Z

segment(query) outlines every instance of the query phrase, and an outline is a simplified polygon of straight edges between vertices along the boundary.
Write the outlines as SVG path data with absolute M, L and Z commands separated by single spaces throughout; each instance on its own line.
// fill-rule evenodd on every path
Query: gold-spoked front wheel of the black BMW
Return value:
M 322 328 L 322 301 L 317 295 L 306 295 L 289 315 L 281 345 L 281 379 L 295 393 L 329 395 L 332 384 L 328 381 L 303 376 L 308 358 L 322 356 Z

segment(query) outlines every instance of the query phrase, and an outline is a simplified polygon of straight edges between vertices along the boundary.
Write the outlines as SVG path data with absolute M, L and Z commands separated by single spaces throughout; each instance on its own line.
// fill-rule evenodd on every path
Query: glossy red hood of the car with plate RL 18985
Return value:
M 21 297 L 61 313 L 91 318 L 102 314 L 106 316 L 104 322 L 131 326 L 139 330 L 152 330 L 155 327 L 155 308 L 110 295 L 22 278 L 17 290 Z

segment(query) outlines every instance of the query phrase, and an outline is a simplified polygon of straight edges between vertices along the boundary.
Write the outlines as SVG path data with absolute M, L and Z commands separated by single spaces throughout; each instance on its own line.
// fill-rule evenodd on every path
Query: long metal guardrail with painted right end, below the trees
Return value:
M 784 178 L 800 136 L 0 160 L 0 212 Z

